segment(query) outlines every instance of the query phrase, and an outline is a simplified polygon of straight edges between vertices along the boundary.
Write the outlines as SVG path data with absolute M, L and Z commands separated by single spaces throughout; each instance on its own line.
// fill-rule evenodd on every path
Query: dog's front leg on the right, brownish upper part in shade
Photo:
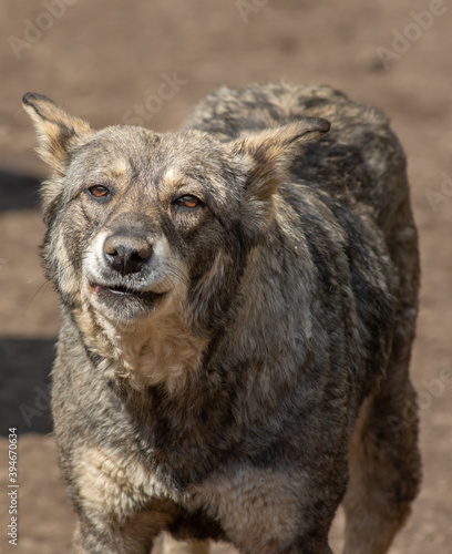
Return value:
M 347 484 L 347 465 L 335 472 L 306 463 L 246 468 L 216 475 L 194 492 L 240 554 L 331 554 L 328 533 Z

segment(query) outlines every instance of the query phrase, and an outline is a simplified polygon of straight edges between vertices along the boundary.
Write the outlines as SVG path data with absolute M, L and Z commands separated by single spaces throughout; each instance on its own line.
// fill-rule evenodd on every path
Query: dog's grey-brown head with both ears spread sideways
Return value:
M 220 320 L 300 143 L 329 130 L 306 119 L 220 143 L 199 131 L 93 131 L 32 93 L 23 106 L 52 168 L 41 192 L 48 274 L 68 306 L 122 321 L 174 301 L 196 306 L 193 324 Z

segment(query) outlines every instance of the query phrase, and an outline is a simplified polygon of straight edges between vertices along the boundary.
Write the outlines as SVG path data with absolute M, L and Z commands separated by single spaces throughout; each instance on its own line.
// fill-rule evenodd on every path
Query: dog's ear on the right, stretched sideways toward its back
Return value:
M 253 133 L 234 141 L 232 152 L 248 160 L 247 191 L 260 201 L 269 201 L 287 176 L 301 143 L 328 133 L 330 123 L 320 117 L 305 117 L 276 129 Z

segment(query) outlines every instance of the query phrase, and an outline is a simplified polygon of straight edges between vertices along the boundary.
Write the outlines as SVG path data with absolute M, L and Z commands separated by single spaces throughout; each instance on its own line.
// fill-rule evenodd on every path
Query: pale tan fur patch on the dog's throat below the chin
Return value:
M 102 358 L 105 377 L 142 390 L 157 383 L 183 389 L 202 363 L 208 339 L 195 336 L 177 309 L 134 321 L 100 317 L 85 304 L 74 312 L 86 347 Z

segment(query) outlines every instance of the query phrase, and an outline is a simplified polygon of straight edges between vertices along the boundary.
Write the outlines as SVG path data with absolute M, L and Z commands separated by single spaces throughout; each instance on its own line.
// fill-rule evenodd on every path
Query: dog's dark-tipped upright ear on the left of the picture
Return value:
M 28 92 L 22 103 L 38 132 L 39 155 L 55 175 L 64 175 L 71 147 L 79 136 L 91 132 L 90 125 L 42 94 Z

